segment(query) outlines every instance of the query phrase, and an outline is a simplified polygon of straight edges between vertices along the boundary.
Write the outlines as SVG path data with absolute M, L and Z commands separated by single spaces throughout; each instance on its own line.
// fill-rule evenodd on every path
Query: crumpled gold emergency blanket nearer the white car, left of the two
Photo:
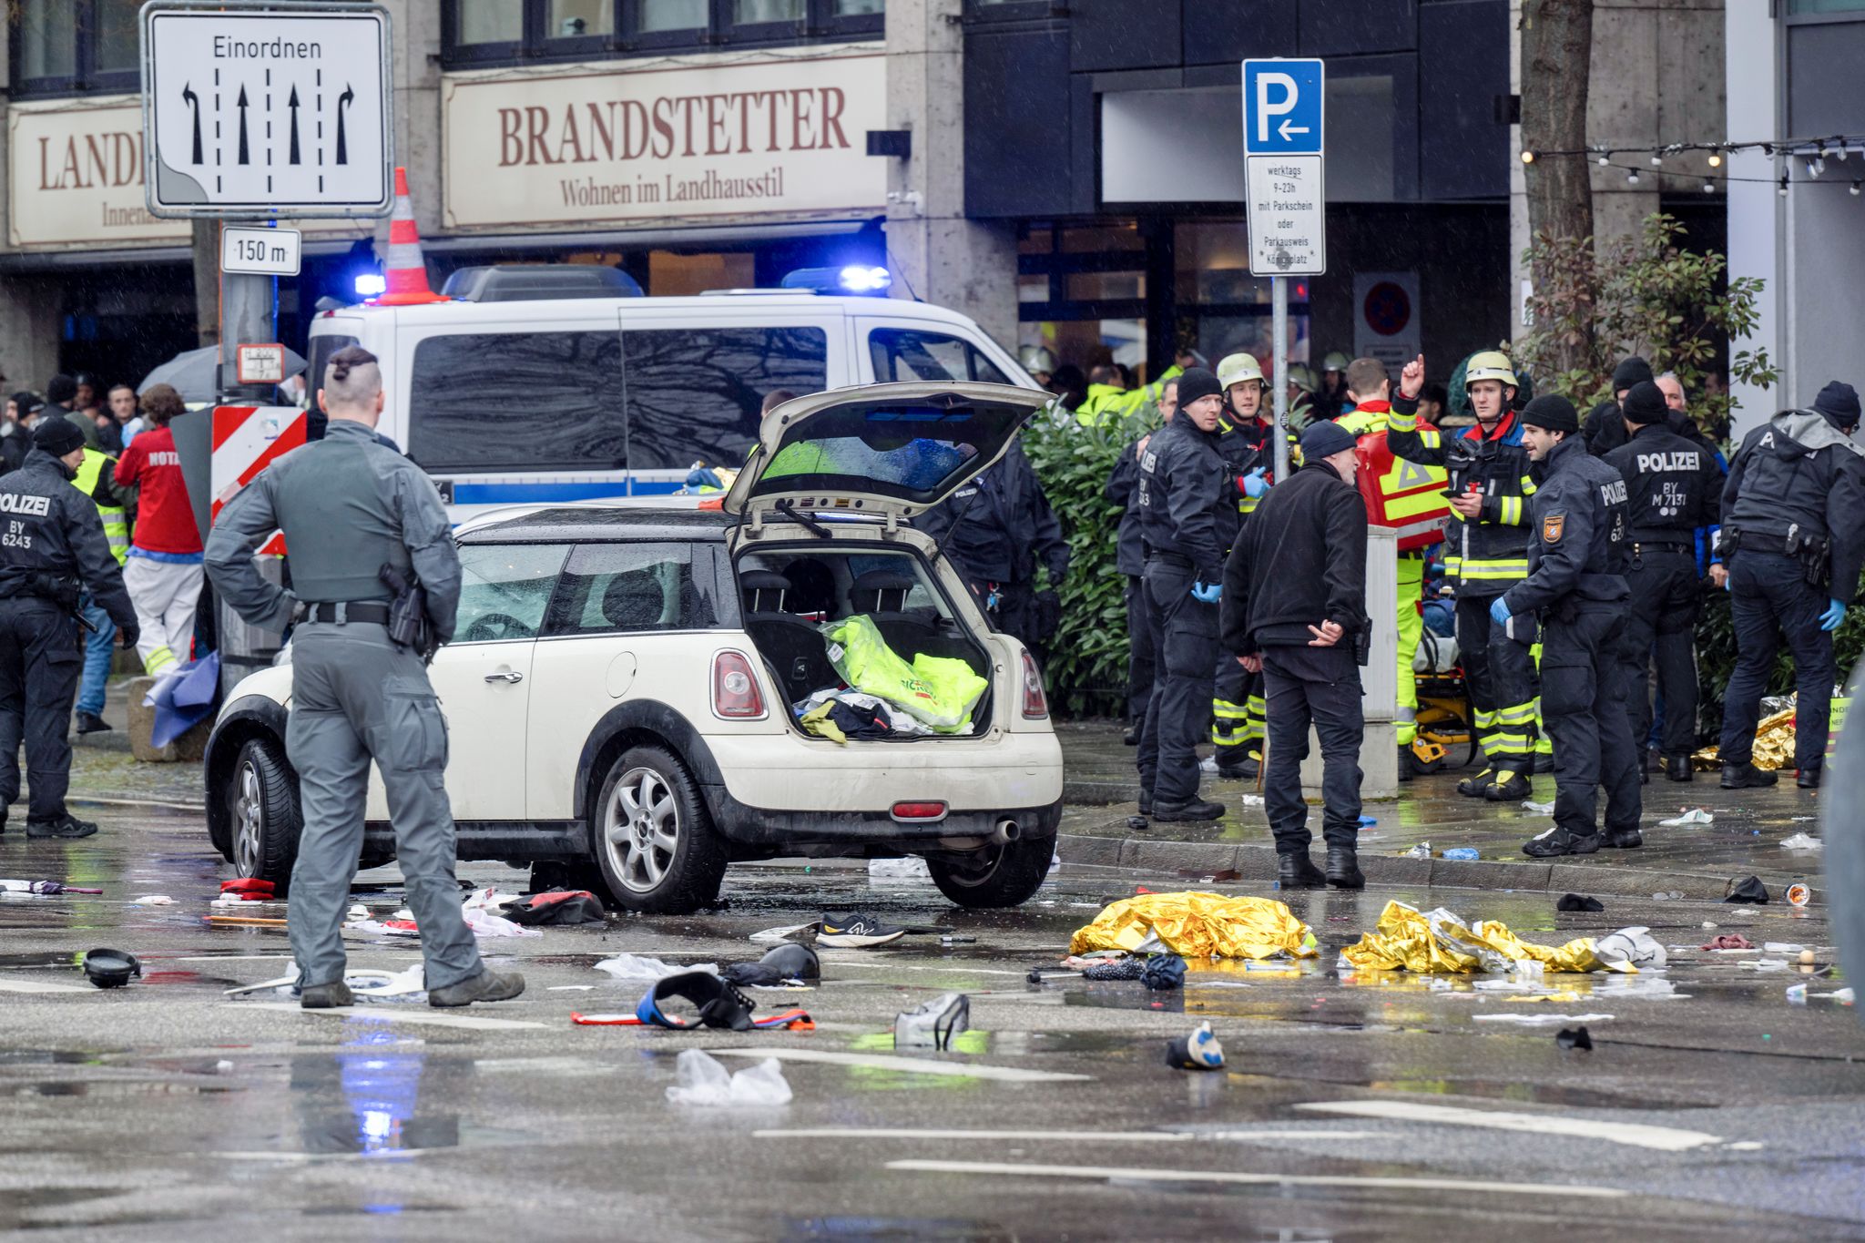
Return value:
M 1274 898 L 1227 898 L 1222 893 L 1143 893 L 1106 906 L 1095 922 L 1076 928 L 1071 954 L 1134 950 L 1147 934 L 1186 958 L 1274 958 L 1315 954 L 1315 934 Z

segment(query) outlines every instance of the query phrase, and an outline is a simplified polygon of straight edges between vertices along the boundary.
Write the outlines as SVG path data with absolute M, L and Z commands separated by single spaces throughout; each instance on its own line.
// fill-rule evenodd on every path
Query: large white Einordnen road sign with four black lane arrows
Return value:
M 149 6 L 145 186 L 157 216 L 382 216 L 388 13 Z

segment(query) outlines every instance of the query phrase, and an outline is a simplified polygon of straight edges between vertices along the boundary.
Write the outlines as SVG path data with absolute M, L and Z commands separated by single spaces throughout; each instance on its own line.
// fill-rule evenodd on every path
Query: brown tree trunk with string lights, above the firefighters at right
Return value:
M 1585 151 L 1587 88 L 1593 67 L 1593 0 L 1522 0 L 1522 149 Z M 1526 170 L 1527 227 L 1539 261 L 1531 272 L 1546 287 L 1548 263 L 1593 268 L 1593 160 L 1582 155 L 1537 158 Z M 1568 278 L 1574 274 L 1567 274 Z M 1582 281 L 1582 287 L 1589 281 Z M 1591 317 L 1555 347 L 1561 371 L 1585 365 Z

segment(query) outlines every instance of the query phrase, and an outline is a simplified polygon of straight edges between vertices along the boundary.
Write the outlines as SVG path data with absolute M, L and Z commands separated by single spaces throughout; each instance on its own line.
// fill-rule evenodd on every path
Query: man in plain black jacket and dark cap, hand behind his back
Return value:
M 1367 881 L 1360 839 L 1360 665 L 1367 660 L 1367 507 L 1354 486 L 1354 436 L 1302 432 L 1302 470 L 1270 488 L 1223 567 L 1223 647 L 1263 675 L 1268 760 L 1263 805 L 1283 889 Z M 1326 876 L 1307 857 L 1302 760 L 1320 736 Z

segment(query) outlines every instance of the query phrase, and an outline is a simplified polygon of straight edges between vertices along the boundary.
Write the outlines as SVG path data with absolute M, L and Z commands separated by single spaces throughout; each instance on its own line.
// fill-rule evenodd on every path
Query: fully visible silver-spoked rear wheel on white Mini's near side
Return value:
M 690 915 L 725 878 L 725 842 L 699 786 L 662 747 L 630 747 L 610 766 L 589 811 L 589 848 L 629 911 Z

